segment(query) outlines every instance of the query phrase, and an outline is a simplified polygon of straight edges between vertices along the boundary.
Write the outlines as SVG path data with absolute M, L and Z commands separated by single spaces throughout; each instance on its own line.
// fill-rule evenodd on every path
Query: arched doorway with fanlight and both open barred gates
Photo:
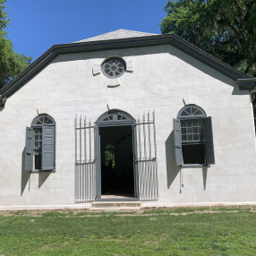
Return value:
M 75 201 L 158 199 L 155 116 L 108 111 L 75 120 Z

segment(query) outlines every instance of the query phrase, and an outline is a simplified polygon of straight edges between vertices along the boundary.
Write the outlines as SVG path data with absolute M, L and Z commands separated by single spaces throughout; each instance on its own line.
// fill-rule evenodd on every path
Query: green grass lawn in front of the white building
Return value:
M 255 210 L 0 212 L 0 255 L 256 255 Z

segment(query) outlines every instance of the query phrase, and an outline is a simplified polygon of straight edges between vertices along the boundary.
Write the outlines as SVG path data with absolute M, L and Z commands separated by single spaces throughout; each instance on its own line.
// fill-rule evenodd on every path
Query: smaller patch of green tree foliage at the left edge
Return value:
M 4 11 L 6 0 L 0 0 L 0 89 L 21 73 L 31 61 L 31 57 L 17 54 L 13 50 L 13 43 L 7 38 L 7 28 L 10 19 Z

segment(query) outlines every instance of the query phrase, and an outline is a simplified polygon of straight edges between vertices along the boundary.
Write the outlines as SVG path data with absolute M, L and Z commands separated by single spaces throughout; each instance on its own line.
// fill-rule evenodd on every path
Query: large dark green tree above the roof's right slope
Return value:
M 162 33 L 175 33 L 256 76 L 256 0 L 167 1 Z

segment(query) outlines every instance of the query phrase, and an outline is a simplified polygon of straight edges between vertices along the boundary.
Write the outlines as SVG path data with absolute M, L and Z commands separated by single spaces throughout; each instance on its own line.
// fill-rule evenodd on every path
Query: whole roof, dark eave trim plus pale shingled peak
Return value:
M 227 77 L 237 81 L 242 90 L 250 90 L 256 85 L 256 78 L 236 70 L 234 67 L 209 55 L 200 48 L 194 47 L 191 43 L 174 34 L 154 35 L 131 30 L 115 30 L 76 43 L 50 47 L 47 52 L 39 56 L 28 68 L 0 90 L 0 99 L 11 97 L 13 93 L 19 90 L 26 82 L 30 81 L 45 68 L 47 64 L 54 60 L 57 55 L 160 45 L 171 45 L 183 51 L 185 54 L 191 55 L 202 63 L 217 70 L 219 73 L 223 73 Z

